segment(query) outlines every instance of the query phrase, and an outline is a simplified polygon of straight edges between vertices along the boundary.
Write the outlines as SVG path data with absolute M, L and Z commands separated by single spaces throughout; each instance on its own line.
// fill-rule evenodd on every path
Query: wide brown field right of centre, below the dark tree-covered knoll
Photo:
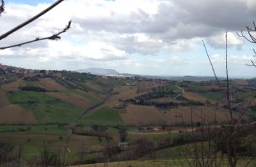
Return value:
M 203 112 L 204 122 L 214 122 L 215 117 L 218 122 L 227 120 L 227 110 L 216 110 L 216 108 L 210 106 L 193 106 L 191 112 L 191 108 L 189 107 L 160 111 L 154 106 L 130 105 L 127 107 L 126 113 L 120 113 L 120 117 L 126 124 L 136 126 L 163 124 L 173 126 L 182 122 L 191 124 L 191 114 L 193 122 L 202 122 L 201 111 Z

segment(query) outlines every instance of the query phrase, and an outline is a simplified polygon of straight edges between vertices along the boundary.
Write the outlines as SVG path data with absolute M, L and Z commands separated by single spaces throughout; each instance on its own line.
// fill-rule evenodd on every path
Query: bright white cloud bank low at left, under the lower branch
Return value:
M 42 62 L 52 61 L 52 59 L 90 59 L 97 61 L 110 61 L 128 59 L 129 54 L 123 50 L 99 41 L 90 41 L 84 45 L 74 45 L 70 41 L 47 41 L 47 48 L 18 48 L 15 52 L 8 49 L 0 52 L 5 56 L 30 56 L 39 57 Z

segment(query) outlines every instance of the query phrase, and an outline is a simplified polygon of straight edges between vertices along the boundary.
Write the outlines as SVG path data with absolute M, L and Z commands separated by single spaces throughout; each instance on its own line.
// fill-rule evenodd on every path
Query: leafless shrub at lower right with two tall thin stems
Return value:
M 256 30 L 256 28 L 255 28 Z M 250 33 L 250 31 L 249 31 Z M 255 38 L 252 37 L 253 40 Z M 228 33 L 225 36 L 225 68 L 226 68 L 226 85 L 221 85 L 221 82 L 216 75 L 214 65 L 212 64 L 211 57 L 209 56 L 207 47 L 205 46 L 204 40 L 203 45 L 205 48 L 205 53 L 209 62 L 211 64 L 212 72 L 216 78 L 216 82 L 218 87 L 220 87 L 223 98 L 225 98 L 225 103 L 227 104 L 228 114 L 226 115 L 227 123 L 220 124 L 216 126 L 216 123 L 212 124 L 211 121 L 207 120 L 203 117 L 203 114 L 196 115 L 196 117 L 200 117 L 201 126 L 200 129 L 194 130 L 194 122 L 193 122 L 193 108 L 191 107 L 191 129 L 192 131 L 186 133 L 186 135 L 190 138 L 190 142 L 192 143 L 193 152 L 189 152 L 188 150 L 184 150 L 184 148 L 180 147 L 182 158 L 185 159 L 186 164 L 189 166 L 226 166 L 225 159 L 227 159 L 228 166 L 235 167 L 237 166 L 237 162 L 239 161 L 239 156 L 241 156 L 239 152 L 239 137 L 241 138 L 242 133 L 248 129 L 248 131 L 252 132 L 250 129 L 254 123 L 249 124 L 239 124 L 243 119 L 246 112 L 248 112 L 248 108 L 252 105 L 252 101 L 255 99 L 255 96 L 248 102 L 246 108 L 244 108 L 243 112 L 240 115 L 234 114 L 234 106 L 236 106 L 236 101 L 232 99 L 231 89 L 230 89 L 230 78 L 228 76 Z M 254 41 L 256 43 L 256 40 Z M 254 51 L 254 50 L 253 50 Z M 255 51 L 254 51 L 255 52 Z M 252 61 L 254 66 L 254 62 Z M 218 110 L 218 109 L 217 109 Z M 216 122 L 216 121 L 215 121 Z M 245 144 L 245 143 L 243 143 Z M 250 148 L 250 156 L 252 156 L 249 161 L 247 161 L 243 166 L 248 166 L 252 163 L 254 157 L 254 152 L 252 154 L 253 146 L 252 143 L 248 143 Z M 246 154 L 249 155 L 249 154 Z M 193 157 L 193 161 L 189 161 L 189 158 Z M 182 164 L 182 161 L 180 161 Z M 183 166 L 183 164 L 182 164 Z

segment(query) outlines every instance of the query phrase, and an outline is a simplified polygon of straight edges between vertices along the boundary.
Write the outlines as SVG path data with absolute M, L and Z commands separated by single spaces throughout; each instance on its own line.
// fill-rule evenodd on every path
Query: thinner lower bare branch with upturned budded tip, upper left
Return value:
M 20 47 L 20 46 L 22 46 L 22 45 L 26 45 L 26 44 L 28 44 L 28 43 L 33 43 L 33 42 L 36 42 L 36 41 L 42 41 L 42 40 L 60 40 L 60 39 L 61 39 L 60 34 L 65 33 L 68 29 L 70 29 L 70 27 L 71 27 L 71 20 L 68 22 L 68 24 L 66 25 L 66 27 L 65 27 L 62 31 L 60 31 L 60 32 L 58 32 L 58 33 L 56 33 L 56 34 L 53 34 L 52 36 L 48 36 L 48 37 L 45 37 L 45 38 L 38 38 L 38 37 L 37 37 L 35 40 L 26 41 L 26 42 L 24 42 L 24 43 L 19 43 L 19 44 L 15 44 L 15 45 L 10 45 L 10 46 L 8 46 L 8 47 L 0 47 L 0 50 L 4 50 L 4 49 L 6 49 L 6 48 Z

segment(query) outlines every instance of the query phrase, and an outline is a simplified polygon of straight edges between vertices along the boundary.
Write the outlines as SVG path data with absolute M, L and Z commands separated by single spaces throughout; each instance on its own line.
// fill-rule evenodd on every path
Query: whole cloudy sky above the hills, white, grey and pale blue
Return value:
M 52 0 L 6 0 L 0 34 L 47 8 Z M 33 69 L 111 68 L 143 75 L 212 76 L 202 40 L 218 75 L 225 74 L 228 31 L 230 75 L 254 76 L 246 66 L 252 45 L 236 32 L 252 25 L 255 0 L 65 0 L 0 41 L 12 45 L 72 29 L 60 41 L 0 50 L 3 64 Z

